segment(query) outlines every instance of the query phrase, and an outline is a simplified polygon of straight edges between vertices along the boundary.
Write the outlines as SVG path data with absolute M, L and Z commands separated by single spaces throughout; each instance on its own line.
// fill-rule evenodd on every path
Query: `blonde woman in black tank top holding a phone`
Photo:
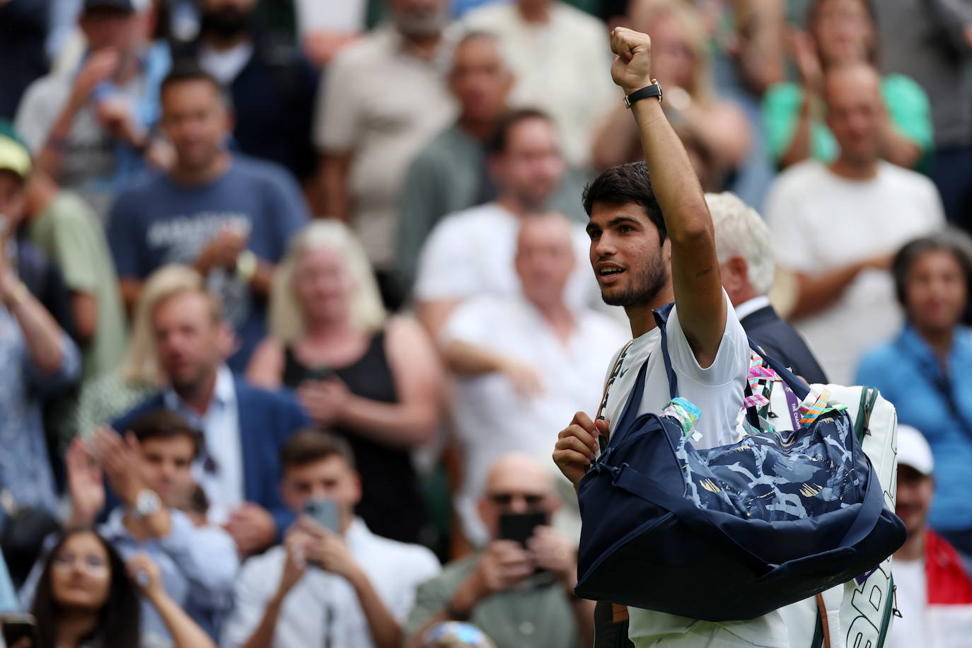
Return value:
M 362 476 L 369 529 L 416 542 L 426 515 L 410 450 L 438 421 L 440 369 L 418 324 L 387 318 L 361 244 L 341 222 L 296 236 L 270 293 L 270 335 L 247 379 L 295 390 L 307 415 L 345 437 Z

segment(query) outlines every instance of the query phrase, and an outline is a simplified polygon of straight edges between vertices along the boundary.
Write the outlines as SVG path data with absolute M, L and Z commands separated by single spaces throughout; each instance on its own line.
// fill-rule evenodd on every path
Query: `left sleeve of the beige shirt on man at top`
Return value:
M 348 55 L 355 53 L 352 46 L 338 54 L 325 73 L 324 91 L 318 98 L 314 123 L 315 142 L 325 153 L 351 151 L 361 137 L 364 123 L 359 90 L 362 70 L 356 69 L 356 60 Z

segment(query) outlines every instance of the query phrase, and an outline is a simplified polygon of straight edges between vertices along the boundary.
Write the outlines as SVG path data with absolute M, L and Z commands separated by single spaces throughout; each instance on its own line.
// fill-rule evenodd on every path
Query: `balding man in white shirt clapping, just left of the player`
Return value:
M 546 460 L 564 419 L 577 409 L 597 406 L 605 365 L 627 340 L 626 331 L 607 316 L 572 310 L 564 301 L 578 265 L 565 217 L 551 213 L 526 219 L 515 264 L 521 294 L 470 299 L 439 335 L 442 357 L 459 376 L 452 412 L 463 484 L 455 503 L 474 545 L 489 537 L 475 509 L 489 466 L 513 451 Z M 518 425 L 509 425 L 511 415 Z M 571 508 L 575 520 L 576 506 Z M 570 524 L 567 518 L 555 526 Z

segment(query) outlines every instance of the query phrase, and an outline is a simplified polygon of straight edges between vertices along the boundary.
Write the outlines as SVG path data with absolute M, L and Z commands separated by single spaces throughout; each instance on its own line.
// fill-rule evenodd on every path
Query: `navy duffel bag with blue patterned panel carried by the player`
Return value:
M 655 315 L 675 398 L 667 310 Z M 764 359 L 806 397 L 802 381 Z M 698 450 L 677 419 L 637 416 L 646 369 L 580 481 L 578 597 L 746 620 L 866 573 L 904 543 L 846 411 Z

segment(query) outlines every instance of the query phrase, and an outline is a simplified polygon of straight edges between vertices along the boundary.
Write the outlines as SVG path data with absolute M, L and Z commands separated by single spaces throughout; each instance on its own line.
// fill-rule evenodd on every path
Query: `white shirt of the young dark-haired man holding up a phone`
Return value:
M 388 611 L 404 623 L 419 585 L 438 574 L 433 553 L 373 534 L 356 518 L 345 533 L 351 555 Z M 276 546 L 244 563 L 233 593 L 233 611 L 223 629 L 223 648 L 247 642 L 277 592 L 287 550 Z M 308 567 L 280 608 L 272 648 L 329 646 L 373 648 L 374 641 L 354 588 L 341 576 Z

